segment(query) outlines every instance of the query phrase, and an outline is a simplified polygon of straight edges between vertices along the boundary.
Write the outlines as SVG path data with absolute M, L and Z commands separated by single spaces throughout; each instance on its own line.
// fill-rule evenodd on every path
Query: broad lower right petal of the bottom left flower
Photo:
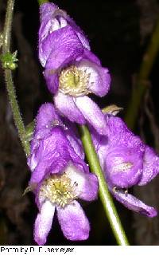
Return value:
M 78 241 L 89 237 L 90 225 L 80 203 L 73 201 L 64 208 L 57 207 L 57 216 L 67 239 Z

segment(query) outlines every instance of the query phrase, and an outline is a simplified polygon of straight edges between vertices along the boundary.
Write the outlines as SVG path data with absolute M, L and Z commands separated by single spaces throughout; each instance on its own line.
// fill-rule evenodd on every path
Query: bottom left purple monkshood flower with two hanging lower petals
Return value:
M 34 239 L 44 245 L 55 214 L 70 240 L 84 240 L 90 225 L 77 199 L 92 201 L 98 179 L 84 163 L 75 129 L 62 122 L 52 104 L 43 104 L 37 115 L 28 164 L 32 171 L 29 187 L 36 195 L 39 213 Z

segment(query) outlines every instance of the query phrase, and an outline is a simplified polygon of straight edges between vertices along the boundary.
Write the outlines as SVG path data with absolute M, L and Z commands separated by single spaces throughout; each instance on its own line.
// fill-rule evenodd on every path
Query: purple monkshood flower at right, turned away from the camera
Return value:
M 106 115 L 107 136 L 91 135 L 101 167 L 114 198 L 130 210 L 154 217 L 157 211 L 128 193 L 134 185 L 149 183 L 159 172 L 159 157 L 152 148 L 134 136 L 121 118 Z

